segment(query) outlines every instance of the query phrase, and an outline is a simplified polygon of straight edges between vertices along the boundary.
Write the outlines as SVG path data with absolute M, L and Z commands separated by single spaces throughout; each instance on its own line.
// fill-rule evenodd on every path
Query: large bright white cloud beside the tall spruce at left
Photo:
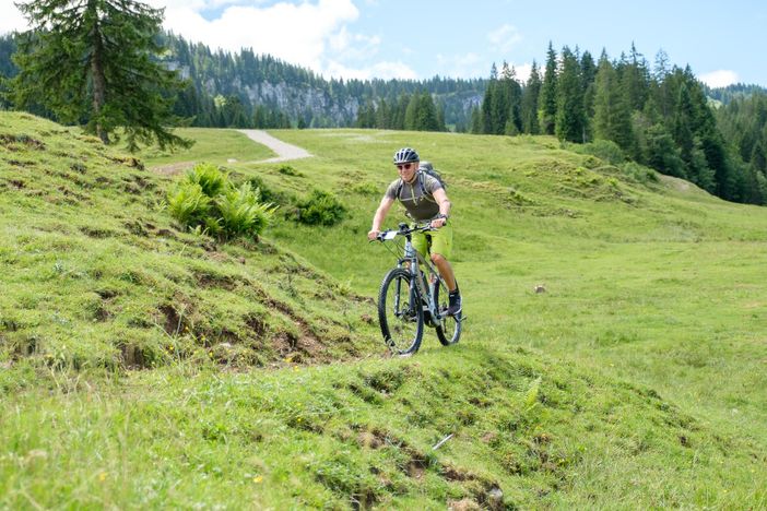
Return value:
M 328 76 L 416 79 L 400 61 L 375 62 L 381 39 L 354 33 L 354 0 L 144 0 L 165 9 L 164 27 L 192 43 L 237 52 L 252 48 Z M 0 0 L 0 33 L 25 29 L 13 2 Z

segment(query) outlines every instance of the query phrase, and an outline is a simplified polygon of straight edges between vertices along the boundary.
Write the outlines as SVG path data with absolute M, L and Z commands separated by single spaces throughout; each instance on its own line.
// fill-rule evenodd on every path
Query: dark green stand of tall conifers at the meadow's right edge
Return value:
M 722 199 L 765 204 L 763 95 L 733 97 L 718 114 L 689 67 L 670 66 L 662 50 L 651 69 L 634 45 L 618 59 L 602 51 L 594 61 L 567 46 L 557 55 L 550 44 L 544 68 L 533 62 L 526 83 L 506 62 L 500 73 L 493 64 L 471 132 L 609 141 L 626 158 Z M 740 131 L 744 126 L 747 136 Z

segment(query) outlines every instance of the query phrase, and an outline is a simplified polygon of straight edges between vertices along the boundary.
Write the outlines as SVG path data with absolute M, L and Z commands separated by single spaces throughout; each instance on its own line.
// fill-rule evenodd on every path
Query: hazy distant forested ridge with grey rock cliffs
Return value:
M 177 112 L 194 117 L 196 126 L 309 127 L 354 126 L 366 103 L 402 104 L 428 93 L 444 112 L 444 122 L 465 126 L 485 80 L 326 80 L 304 68 L 251 49 L 238 54 L 168 34 L 167 61 L 190 79 Z M 404 128 L 402 126 L 401 128 Z M 436 128 L 436 126 L 434 127 Z

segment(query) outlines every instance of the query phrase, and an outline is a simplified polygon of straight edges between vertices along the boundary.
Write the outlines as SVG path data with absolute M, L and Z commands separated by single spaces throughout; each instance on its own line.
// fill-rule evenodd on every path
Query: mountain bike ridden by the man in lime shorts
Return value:
M 378 241 L 393 241 L 389 250 L 398 258 L 378 292 L 378 322 L 384 341 L 397 355 L 413 355 L 421 347 L 424 324 L 437 331 L 439 342 L 448 346 L 461 336 L 461 313 L 447 314 L 448 287 L 432 261 L 412 243 L 413 233 L 436 230 L 429 224 L 400 224 L 397 230 L 384 230 Z M 404 242 L 399 240 L 404 239 Z M 400 255 L 401 254 L 401 255 Z

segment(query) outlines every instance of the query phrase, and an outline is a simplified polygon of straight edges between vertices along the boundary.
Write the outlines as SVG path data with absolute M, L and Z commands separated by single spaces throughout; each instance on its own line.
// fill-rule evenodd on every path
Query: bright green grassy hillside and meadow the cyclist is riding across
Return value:
M 0 504 L 767 507 L 764 210 L 548 138 L 273 134 L 316 156 L 145 155 L 280 203 L 220 243 L 163 210 L 173 171 L 0 114 Z M 365 234 L 403 145 L 449 182 L 469 319 L 392 359 Z M 291 219 L 312 187 L 346 219 Z

